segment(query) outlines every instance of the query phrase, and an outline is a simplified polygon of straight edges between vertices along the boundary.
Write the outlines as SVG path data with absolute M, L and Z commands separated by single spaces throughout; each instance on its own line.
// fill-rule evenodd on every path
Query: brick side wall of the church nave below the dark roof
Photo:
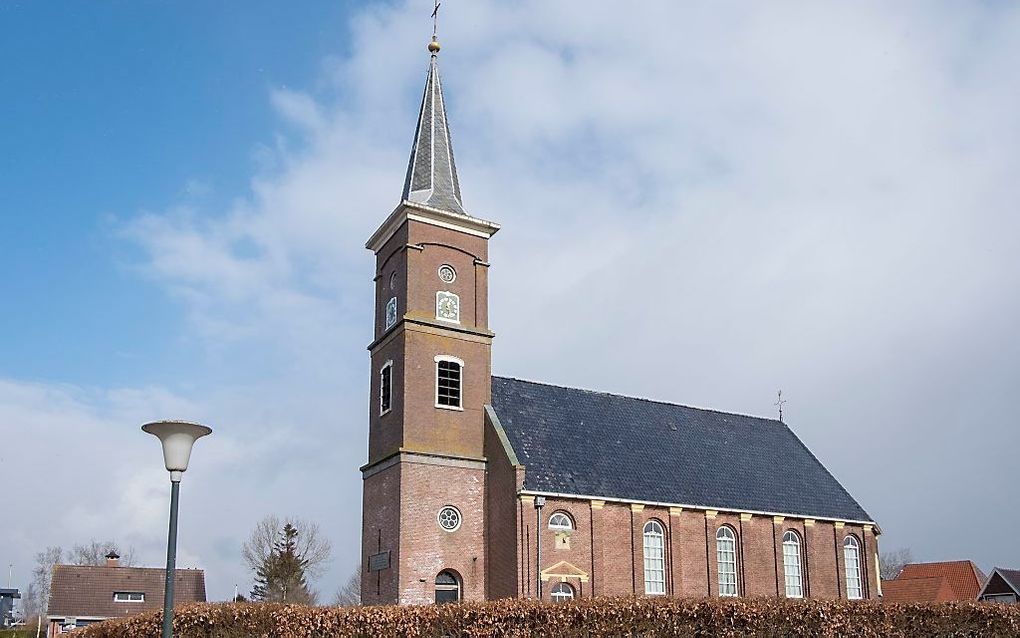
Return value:
M 586 575 L 588 582 L 565 579 L 578 596 L 645 595 L 644 530 L 652 520 L 665 533 L 666 595 L 719 595 L 716 532 L 726 525 L 735 536 L 741 596 L 785 596 L 782 536 L 787 530 L 802 539 L 805 597 L 847 598 L 843 543 L 851 534 L 860 543 L 862 597 L 877 596 L 873 569 L 877 544 L 873 530 L 864 526 L 552 497 L 546 499 L 540 521 L 534 496 L 521 495 L 519 506 L 518 573 L 528 579 L 519 588 L 524 597 L 536 596 L 537 571 L 548 571 L 561 561 Z M 569 548 L 557 545 L 556 533 L 549 529 L 549 519 L 556 511 L 568 513 L 574 522 Z M 536 563 L 537 535 L 542 539 L 541 566 Z M 555 582 L 543 583 L 543 599 L 551 600 Z

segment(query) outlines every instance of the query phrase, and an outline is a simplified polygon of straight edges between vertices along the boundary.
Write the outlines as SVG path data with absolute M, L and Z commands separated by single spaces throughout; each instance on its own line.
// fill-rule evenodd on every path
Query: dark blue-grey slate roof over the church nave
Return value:
M 871 521 L 784 424 L 493 377 L 524 489 Z

